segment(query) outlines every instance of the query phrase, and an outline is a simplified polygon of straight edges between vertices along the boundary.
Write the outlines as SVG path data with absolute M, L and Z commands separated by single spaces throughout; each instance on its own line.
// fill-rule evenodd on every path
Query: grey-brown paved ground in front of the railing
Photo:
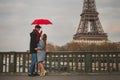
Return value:
M 120 75 L 69 75 L 69 76 L 0 76 L 0 80 L 120 80 Z

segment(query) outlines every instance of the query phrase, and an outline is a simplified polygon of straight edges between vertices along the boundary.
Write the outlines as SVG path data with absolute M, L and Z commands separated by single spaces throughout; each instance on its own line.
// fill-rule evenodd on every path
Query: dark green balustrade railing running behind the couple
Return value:
M 47 52 L 44 63 L 48 72 L 120 73 L 120 52 Z M 0 52 L 0 73 L 27 73 L 30 64 L 30 53 Z

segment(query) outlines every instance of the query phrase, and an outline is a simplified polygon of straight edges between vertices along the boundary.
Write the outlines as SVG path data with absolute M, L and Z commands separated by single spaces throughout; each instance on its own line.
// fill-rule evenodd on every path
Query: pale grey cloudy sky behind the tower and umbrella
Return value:
M 96 0 L 100 22 L 108 39 L 120 42 L 120 0 Z M 29 50 L 31 25 L 38 18 L 48 42 L 65 45 L 73 40 L 80 22 L 83 0 L 0 0 L 0 52 Z

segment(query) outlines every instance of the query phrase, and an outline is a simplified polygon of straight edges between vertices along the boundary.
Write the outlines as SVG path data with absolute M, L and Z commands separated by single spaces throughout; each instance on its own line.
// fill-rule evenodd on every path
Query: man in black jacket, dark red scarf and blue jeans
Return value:
M 29 68 L 29 73 L 28 76 L 35 76 L 37 75 L 35 73 L 35 65 L 37 63 L 37 44 L 40 40 L 40 36 L 42 34 L 42 31 L 39 33 L 40 31 L 40 26 L 36 25 L 35 29 L 33 29 L 33 31 L 30 33 L 30 53 L 31 53 L 31 66 Z

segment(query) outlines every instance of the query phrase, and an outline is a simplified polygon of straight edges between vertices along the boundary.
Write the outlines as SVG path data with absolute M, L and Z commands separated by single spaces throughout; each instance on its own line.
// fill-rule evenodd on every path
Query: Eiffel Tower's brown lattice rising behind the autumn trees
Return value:
M 107 33 L 104 33 L 98 15 L 95 0 L 84 0 L 81 20 L 73 40 L 107 41 Z

